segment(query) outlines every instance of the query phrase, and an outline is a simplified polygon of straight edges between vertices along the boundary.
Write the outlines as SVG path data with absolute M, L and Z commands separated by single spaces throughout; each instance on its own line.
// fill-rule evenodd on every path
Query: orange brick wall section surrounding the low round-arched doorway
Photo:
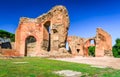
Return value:
M 33 36 L 36 38 L 37 43 L 35 47 L 34 54 L 31 54 L 31 56 L 35 56 L 36 53 L 38 53 L 41 49 L 41 42 L 42 42 L 42 27 L 40 24 L 37 24 L 36 19 L 30 19 L 30 18 L 20 18 L 19 26 L 16 31 L 16 37 L 15 37 L 15 46 L 16 51 L 20 52 L 21 56 L 25 56 L 25 47 L 26 47 L 26 39 L 29 36 Z

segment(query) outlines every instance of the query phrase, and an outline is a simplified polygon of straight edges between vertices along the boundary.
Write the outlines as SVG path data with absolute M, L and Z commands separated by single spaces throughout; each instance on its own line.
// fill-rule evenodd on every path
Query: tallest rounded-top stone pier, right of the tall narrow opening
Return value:
M 56 6 L 52 10 L 51 19 L 51 51 L 64 51 L 69 28 L 69 16 L 64 6 Z

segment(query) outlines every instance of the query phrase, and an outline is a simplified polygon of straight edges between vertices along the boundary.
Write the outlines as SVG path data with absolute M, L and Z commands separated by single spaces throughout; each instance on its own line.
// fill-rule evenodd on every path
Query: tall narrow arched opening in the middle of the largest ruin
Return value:
M 51 29 L 50 29 L 50 21 L 44 23 L 43 28 L 43 45 L 42 48 L 46 51 L 50 51 L 50 43 L 51 43 Z

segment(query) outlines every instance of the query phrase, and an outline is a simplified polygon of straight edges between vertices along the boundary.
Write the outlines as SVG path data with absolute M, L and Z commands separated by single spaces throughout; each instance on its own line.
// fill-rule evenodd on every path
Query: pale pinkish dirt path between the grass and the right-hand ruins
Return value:
M 68 62 L 76 62 L 83 64 L 90 64 L 93 66 L 110 67 L 114 69 L 120 69 L 120 58 L 113 57 L 80 57 L 74 58 L 56 58 L 55 60 L 62 60 Z

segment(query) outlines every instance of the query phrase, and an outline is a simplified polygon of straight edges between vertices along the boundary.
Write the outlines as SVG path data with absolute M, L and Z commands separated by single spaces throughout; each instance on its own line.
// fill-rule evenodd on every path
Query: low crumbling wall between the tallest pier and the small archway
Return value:
M 80 56 L 89 56 L 88 48 L 94 46 L 90 44 L 91 40 L 95 38 L 81 38 L 77 36 L 69 36 L 68 44 L 71 50 L 71 54 Z

